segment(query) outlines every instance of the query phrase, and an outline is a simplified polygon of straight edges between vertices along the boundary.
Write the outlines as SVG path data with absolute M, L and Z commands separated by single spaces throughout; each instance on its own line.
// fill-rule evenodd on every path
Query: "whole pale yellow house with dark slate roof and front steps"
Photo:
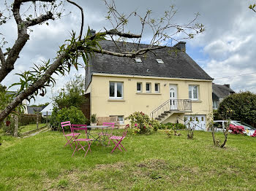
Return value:
M 112 41 L 100 44 L 118 51 Z M 129 51 L 138 47 L 116 44 Z M 143 47 L 146 44 L 140 44 Z M 97 117 L 118 116 L 122 124 L 129 114 L 144 112 L 163 123 L 184 123 L 189 118 L 206 129 L 206 118 L 212 112 L 212 80 L 187 55 L 186 42 L 138 58 L 96 53 L 86 67 L 88 110 Z

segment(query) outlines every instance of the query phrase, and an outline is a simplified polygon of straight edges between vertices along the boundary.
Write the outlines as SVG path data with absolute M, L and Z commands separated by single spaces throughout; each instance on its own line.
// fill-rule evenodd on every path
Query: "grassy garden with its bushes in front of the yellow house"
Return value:
M 64 147 L 67 140 L 60 122 L 97 121 L 96 114 L 86 119 L 79 109 L 82 84 L 73 81 L 56 95 L 49 124 L 42 120 L 37 127 L 27 119 L 20 120 L 18 128 L 20 135 L 47 130 L 15 137 L 0 129 L 0 190 L 255 189 L 256 139 L 232 125 L 215 132 L 210 124 L 211 132 L 203 132 L 193 125 L 160 124 L 143 112 L 135 112 L 126 118 L 128 133 L 121 142 L 127 151 L 116 149 L 111 154 L 113 143 L 109 147 L 93 143 L 86 157 L 82 149 L 72 157 L 74 149 Z M 12 121 L 2 125 L 13 129 Z M 64 130 L 69 133 L 69 126 Z M 96 135 L 100 132 L 92 131 Z M 123 132 L 114 129 L 113 135 L 122 136 Z

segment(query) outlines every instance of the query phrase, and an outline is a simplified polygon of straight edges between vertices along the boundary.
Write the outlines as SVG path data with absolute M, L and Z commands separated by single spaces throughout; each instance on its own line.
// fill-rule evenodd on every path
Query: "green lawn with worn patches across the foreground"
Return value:
M 59 132 L 4 136 L 0 190 L 256 190 L 255 138 L 229 135 L 219 149 L 211 133 L 181 133 L 129 134 L 127 152 L 93 144 L 85 158 L 82 150 L 71 157 Z

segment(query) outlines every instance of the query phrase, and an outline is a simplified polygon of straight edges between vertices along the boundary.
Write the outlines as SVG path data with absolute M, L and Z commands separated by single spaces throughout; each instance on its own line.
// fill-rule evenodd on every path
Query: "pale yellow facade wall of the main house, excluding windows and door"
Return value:
M 123 82 L 123 98 L 110 98 L 110 82 Z M 142 83 L 142 92 L 137 92 L 137 82 Z M 159 93 L 146 93 L 146 83 L 159 83 Z M 118 74 L 93 74 L 86 93 L 91 93 L 91 114 L 97 117 L 118 115 L 127 117 L 133 112 L 150 114 L 154 109 L 170 99 L 170 85 L 177 85 L 178 99 L 189 98 L 189 85 L 197 85 L 198 101 L 192 101 L 192 112 L 185 114 L 205 114 L 212 112 L 212 81 L 205 79 L 178 79 L 167 77 L 143 77 Z M 165 122 L 176 122 L 183 114 L 172 114 Z

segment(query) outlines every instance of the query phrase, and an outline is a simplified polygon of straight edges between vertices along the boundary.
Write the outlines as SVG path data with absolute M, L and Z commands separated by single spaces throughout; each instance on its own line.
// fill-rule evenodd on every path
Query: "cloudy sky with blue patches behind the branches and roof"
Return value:
M 74 0 L 75 1 L 75 0 Z M 8 0 L 7 2 L 11 2 Z M 78 1 L 83 7 L 85 24 L 84 32 L 88 26 L 96 31 L 104 28 L 111 29 L 108 20 L 105 19 L 108 9 L 102 0 Z M 170 5 L 175 5 L 177 13 L 172 22 L 176 24 L 189 23 L 199 12 L 197 23 L 203 23 L 206 31 L 198 34 L 194 39 L 186 39 L 187 54 L 202 67 L 207 74 L 214 78 L 214 83 L 230 84 L 236 92 L 249 90 L 256 93 L 256 13 L 249 9 L 249 4 L 256 1 L 239 0 L 116 0 L 118 12 L 135 11 L 143 15 L 147 9 L 152 10 L 154 17 L 159 17 Z M 24 4 L 22 11 L 25 12 L 30 4 Z M 3 11 L 4 2 L 0 2 L 0 12 Z M 53 61 L 59 46 L 69 39 L 70 33 L 80 30 L 80 11 L 72 4 L 64 5 L 67 16 L 58 20 L 50 20 L 40 26 L 31 27 L 30 39 L 20 52 L 20 58 L 15 63 L 15 69 L 1 82 L 7 87 L 19 80 L 16 73 L 29 70 L 33 64 L 42 61 Z M 28 14 L 28 12 L 27 12 Z M 138 34 L 140 26 L 135 19 L 129 20 L 129 31 Z M 11 47 L 17 38 L 17 26 L 13 19 L 0 26 L 0 38 L 7 40 L 7 47 Z M 143 42 L 150 39 L 150 31 L 143 34 Z M 72 69 L 65 77 L 56 76 L 55 87 L 48 87 L 48 93 L 42 97 L 37 96 L 36 102 L 30 104 L 44 104 L 50 102 L 52 95 L 64 84 L 75 77 L 75 74 L 85 75 L 83 68 L 78 71 Z M 10 90 L 16 90 L 12 87 Z

